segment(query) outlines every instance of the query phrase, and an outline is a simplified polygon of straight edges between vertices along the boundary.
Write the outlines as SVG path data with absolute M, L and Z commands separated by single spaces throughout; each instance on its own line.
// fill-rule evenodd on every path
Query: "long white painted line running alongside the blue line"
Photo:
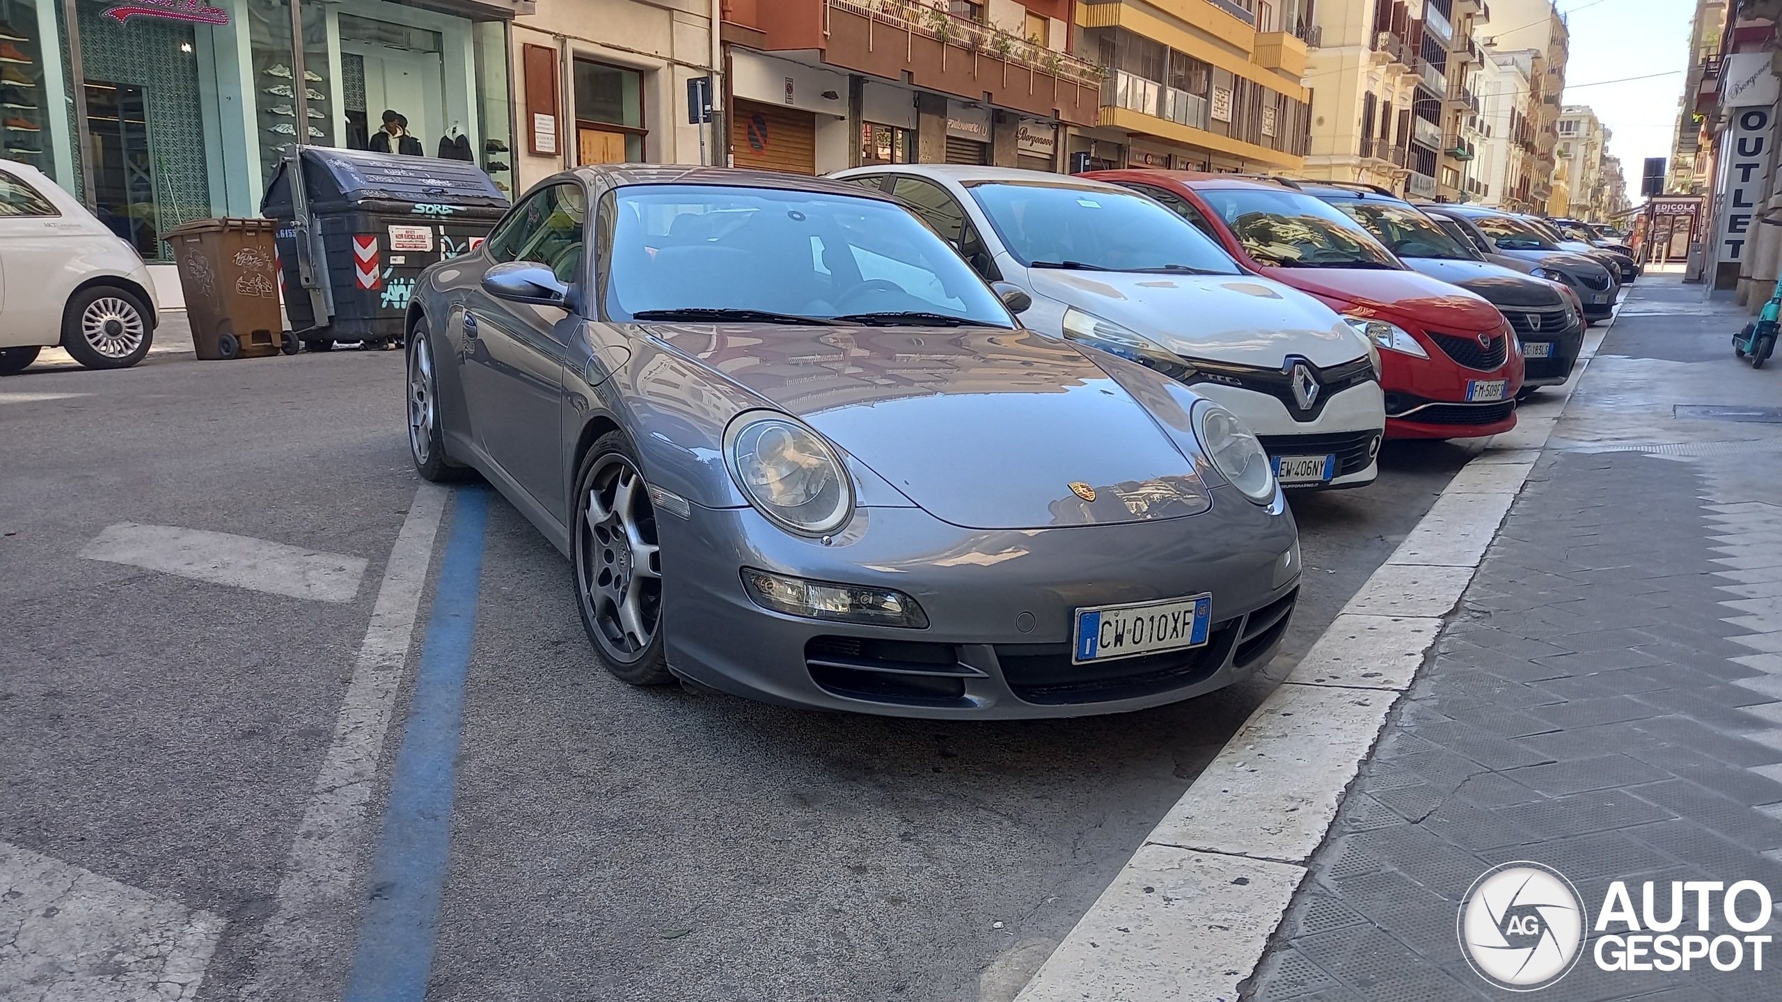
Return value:
M 358 665 L 335 717 L 328 758 L 315 776 L 308 809 L 285 858 L 278 906 L 260 931 L 255 973 L 242 991 L 244 998 L 296 998 L 301 986 L 314 986 L 321 961 L 339 954 L 323 929 L 328 918 L 349 911 L 365 808 L 408 663 L 447 494 L 442 487 L 422 483 L 390 549 Z

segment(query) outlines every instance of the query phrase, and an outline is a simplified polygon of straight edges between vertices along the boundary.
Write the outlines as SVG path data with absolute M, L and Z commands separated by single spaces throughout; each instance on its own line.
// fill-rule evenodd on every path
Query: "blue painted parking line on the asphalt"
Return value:
M 453 760 L 463 676 L 476 635 L 488 490 L 456 492 L 421 672 L 396 756 L 383 838 L 367 881 L 365 920 L 346 1002 L 421 1002 L 451 840 Z

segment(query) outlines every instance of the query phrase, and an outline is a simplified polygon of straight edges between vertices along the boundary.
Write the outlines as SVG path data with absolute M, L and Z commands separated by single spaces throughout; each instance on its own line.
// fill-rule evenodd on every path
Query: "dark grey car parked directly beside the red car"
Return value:
M 1504 314 L 1522 344 L 1522 392 L 1566 382 L 1584 344 L 1584 317 L 1556 282 L 1492 264 L 1402 198 L 1365 184 L 1301 182 L 1367 226 L 1413 269 L 1477 292 Z

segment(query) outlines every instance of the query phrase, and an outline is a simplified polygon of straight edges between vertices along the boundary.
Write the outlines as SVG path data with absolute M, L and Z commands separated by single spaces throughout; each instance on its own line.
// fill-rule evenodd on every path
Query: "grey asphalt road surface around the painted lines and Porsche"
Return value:
M 164 344 L 0 382 L 0 842 L 216 913 L 198 998 L 239 998 L 419 481 L 401 353 Z M 1059 722 L 627 688 L 593 665 L 561 556 L 492 499 L 428 997 L 1010 998 L 1467 456 L 1390 446 L 1376 485 L 1294 499 L 1306 583 L 1265 678 Z M 80 556 L 119 522 L 364 578 L 315 601 Z M 419 649 L 421 629 L 410 678 Z M 405 708 L 406 688 L 374 818 Z M 342 997 L 358 915 L 321 925 L 273 997 Z

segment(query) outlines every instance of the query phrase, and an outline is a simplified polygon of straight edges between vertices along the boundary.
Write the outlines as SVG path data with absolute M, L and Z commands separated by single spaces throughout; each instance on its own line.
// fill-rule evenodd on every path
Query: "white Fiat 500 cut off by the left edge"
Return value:
M 87 369 L 135 365 L 155 312 L 135 248 L 37 168 L 0 160 L 0 376 L 57 344 Z

